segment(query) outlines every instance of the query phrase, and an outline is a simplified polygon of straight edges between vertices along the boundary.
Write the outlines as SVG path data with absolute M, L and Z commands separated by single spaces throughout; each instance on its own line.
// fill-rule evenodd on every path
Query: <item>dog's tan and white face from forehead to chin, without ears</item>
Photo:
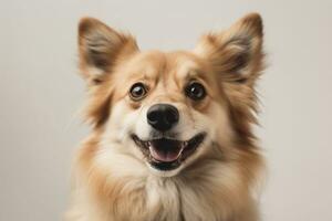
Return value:
M 133 55 L 116 72 L 110 134 L 155 173 L 177 173 L 211 144 L 218 127 L 229 135 L 226 106 L 217 101 L 222 92 L 206 74 L 211 72 L 193 53 Z

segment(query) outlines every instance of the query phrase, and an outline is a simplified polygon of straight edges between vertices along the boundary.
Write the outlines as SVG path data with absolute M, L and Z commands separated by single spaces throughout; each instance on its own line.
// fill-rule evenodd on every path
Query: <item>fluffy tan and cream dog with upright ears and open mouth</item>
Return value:
M 75 155 L 68 221 L 257 221 L 264 160 L 252 131 L 263 25 L 250 13 L 193 51 L 145 51 L 79 24 L 92 133 Z

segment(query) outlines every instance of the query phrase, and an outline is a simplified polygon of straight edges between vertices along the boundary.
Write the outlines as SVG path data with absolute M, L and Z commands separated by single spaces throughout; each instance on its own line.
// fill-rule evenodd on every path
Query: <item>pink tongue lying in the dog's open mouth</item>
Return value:
M 165 148 L 156 148 L 153 145 L 149 146 L 149 152 L 152 157 L 156 160 L 170 162 L 176 160 L 180 154 L 183 148 L 174 148 L 174 149 L 165 149 Z

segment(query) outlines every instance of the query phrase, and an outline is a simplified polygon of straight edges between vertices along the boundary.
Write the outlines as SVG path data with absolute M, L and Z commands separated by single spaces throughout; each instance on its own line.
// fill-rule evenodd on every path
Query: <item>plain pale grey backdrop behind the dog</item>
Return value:
M 193 49 L 198 36 L 261 13 L 269 67 L 259 84 L 269 165 L 264 221 L 332 220 L 332 1 L 1 0 L 0 220 L 62 219 L 84 83 L 76 25 L 91 15 L 141 49 Z

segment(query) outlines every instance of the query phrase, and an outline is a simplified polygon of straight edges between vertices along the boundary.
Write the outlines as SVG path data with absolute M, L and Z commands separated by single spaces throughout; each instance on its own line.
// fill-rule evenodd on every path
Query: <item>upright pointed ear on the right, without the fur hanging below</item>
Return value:
M 224 32 L 203 36 L 195 52 L 206 57 L 226 82 L 250 82 L 263 66 L 262 36 L 262 20 L 251 13 Z

